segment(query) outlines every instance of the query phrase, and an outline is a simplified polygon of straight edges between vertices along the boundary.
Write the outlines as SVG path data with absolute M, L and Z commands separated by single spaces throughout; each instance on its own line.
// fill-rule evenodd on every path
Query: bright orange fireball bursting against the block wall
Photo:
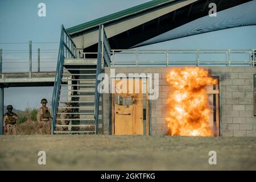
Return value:
M 185 67 L 169 72 L 167 82 L 172 87 L 166 118 L 169 135 L 212 136 L 206 87 L 217 80 L 203 68 Z

